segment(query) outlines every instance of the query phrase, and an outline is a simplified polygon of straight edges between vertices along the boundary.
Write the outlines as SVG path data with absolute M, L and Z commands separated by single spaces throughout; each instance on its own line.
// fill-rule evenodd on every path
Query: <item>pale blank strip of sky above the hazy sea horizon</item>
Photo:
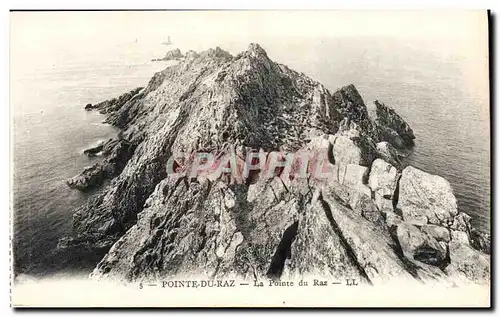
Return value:
M 135 11 L 13 12 L 12 38 L 26 45 L 60 39 L 387 35 L 477 39 L 485 11 Z

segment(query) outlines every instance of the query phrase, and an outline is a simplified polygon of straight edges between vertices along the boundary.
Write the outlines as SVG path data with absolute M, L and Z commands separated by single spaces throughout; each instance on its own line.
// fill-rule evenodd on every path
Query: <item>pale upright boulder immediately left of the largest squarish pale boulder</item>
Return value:
M 398 184 L 398 171 L 381 159 L 372 163 L 368 185 L 373 191 L 375 204 L 382 213 L 393 211 L 394 192 Z

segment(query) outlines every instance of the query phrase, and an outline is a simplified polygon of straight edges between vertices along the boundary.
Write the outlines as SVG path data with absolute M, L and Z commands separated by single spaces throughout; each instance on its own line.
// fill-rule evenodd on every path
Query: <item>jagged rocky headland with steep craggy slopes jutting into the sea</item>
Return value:
M 147 87 L 87 105 L 122 131 L 103 146 L 103 161 L 68 181 L 81 190 L 109 184 L 75 212 L 75 237 L 61 247 L 111 247 L 96 278 L 487 283 L 488 238 L 457 210 L 446 180 L 401 165 L 397 148 L 413 144 L 413 131 L 375 104 L 370 115 L 353 85 L 331 94 L 257 44 L 234 57 L 219 48 L 186 54 Z M 176 153 L 252 150 L 326 153 L 332 177 L 167 174 Z

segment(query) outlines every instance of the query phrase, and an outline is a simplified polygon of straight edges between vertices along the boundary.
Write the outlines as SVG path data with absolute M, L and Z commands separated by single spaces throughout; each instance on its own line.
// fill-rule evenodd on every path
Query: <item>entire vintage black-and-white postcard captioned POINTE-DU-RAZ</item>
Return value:
M 9 20 L 14 307 L 490 307 L 487 10 Z

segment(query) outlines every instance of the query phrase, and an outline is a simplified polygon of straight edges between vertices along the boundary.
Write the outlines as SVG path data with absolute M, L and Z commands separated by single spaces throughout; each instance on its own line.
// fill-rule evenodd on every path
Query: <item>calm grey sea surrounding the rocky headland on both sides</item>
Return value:
M 388 39 L 313 42 L 259 39 L 272 59 L 331 91 L 353 83 L 365 102 L 379 99 L 395 108 L 416 135 L 411 164 L 448 179 L 459 208 L 472 215 L 481 230 L 489 231 L 488 96 L 468 73 L 475 69 L 474 62 L 453 52 Z M 248 43 L 217 44 L 237 53 Z M 185 51 L 215 45 L 179 46 Z M 117 133 L 101 124 L 103 116 L 83 106 L 146 85 L 165 67 L 150 60 L 166 50 L 158 42 L 132 40 L 95 51 L 48 51 L 37 56 L 36 63 L 26 60 L 26 67 L 21 67 L 25 57 L 15 61 L 21 65 L 11 71 L 16 273 L 88 274 L 99 260 L 55 252 L 58 239 L 71 232 L 73 210 L 89 195 L 70 190 L 65 180 L 99 159 L 82 155 L 85 148 Z

